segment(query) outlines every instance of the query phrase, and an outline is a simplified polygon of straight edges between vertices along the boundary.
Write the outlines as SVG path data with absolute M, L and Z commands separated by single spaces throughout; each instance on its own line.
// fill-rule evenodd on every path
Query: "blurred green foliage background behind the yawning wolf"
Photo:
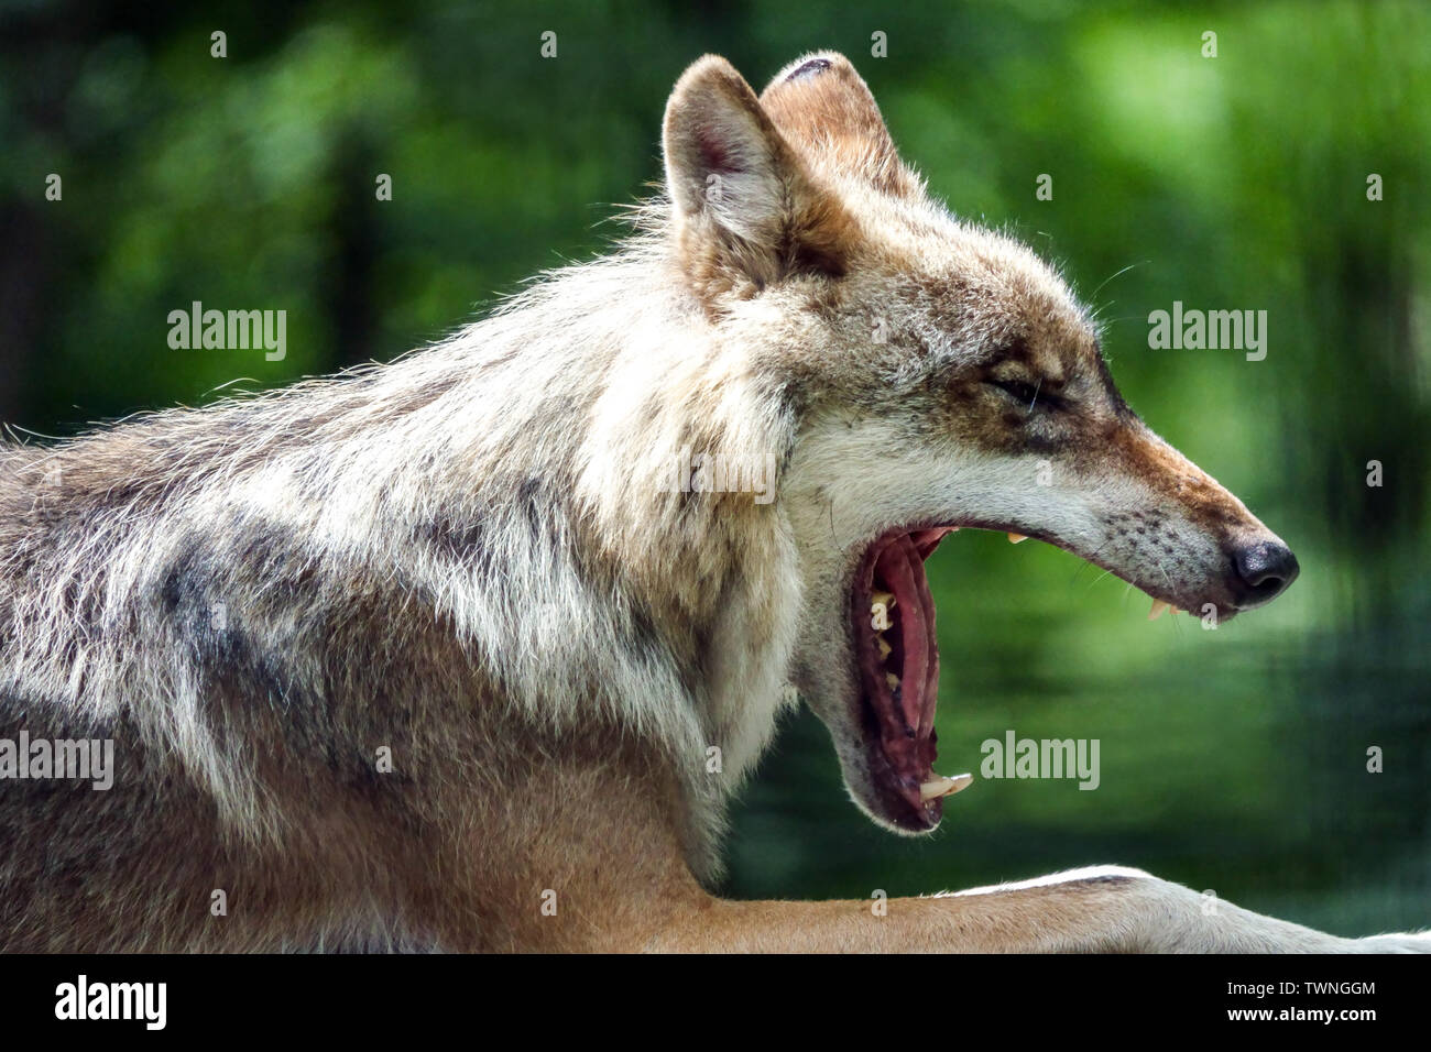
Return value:
M 1118 862 L 1338 933 L 1431 923 L 1427 4 L 0 0 L 0 421 L 43 435 L 439 336 L 618 232 L 690 60 L 720 52 L 758 89 L 843 50 L 932 189 L 1065 268 L 1132 405 L 1302 577 L 1203 631 L 1148 624 L 1145 595 L 1037 542 L 952 538 L 940 769 L 977 770 L 1007 729 L 1096 737 L 1102 786 L 980 779 L 903 840 L 847 803 L 804 714 L 736 809 L 726 889 Z M 195 299 L 285 308 L 286 361 L 172 351 Z M 1175 299 L 1265 309 L 1266 359 L 1151 351 Z

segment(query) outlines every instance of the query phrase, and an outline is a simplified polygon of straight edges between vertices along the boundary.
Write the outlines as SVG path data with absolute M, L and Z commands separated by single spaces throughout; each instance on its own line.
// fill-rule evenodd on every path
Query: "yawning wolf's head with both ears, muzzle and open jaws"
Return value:
M 876 822 L 933 829 L 966 784 L 932 770 L 923 561 L 947 532 L 1059 545 L 1155 614 L 1225 621 L 1291 584 L 1286 545 L 1128 408 L 1058 273 L 926 196 L 846 59 L 800 59 L 758 97 L 701 59 L 664 146 L 683 281 L 794 419 L 790 674 Z

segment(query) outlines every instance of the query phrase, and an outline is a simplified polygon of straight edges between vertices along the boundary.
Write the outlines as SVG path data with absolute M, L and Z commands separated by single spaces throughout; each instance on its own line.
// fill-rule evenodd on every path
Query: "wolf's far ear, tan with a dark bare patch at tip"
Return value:
M 896 198 L 923 193 L 923 182 L 900 160 L 869 86 L 843 54 L 796 59 L 770 82 L 760 104 L 817 169 L 857 176 Z

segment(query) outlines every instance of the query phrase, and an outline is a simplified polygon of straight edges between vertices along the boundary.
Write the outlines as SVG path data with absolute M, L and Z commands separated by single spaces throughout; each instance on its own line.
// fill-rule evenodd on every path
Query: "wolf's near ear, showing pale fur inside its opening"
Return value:
M 665 104 L 664 147 L 688 255 L 743 271 L 757 286 L 807 265 L 840 271 L 843 209 L 811 183 L 728 62 L 707 54 L 681 74 Z

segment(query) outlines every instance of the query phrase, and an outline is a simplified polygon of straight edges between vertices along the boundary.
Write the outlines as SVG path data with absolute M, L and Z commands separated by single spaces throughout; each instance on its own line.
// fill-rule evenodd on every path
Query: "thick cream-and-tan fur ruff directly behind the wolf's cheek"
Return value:
M 694 309 L 658 252 L 562 275 L 531 309 L 532 326 L 571 336 L 562 349 L 534 348 L 577 358 L 544 369 L 558 386 L 572 381 L 560 395 L 571 425 L 555 457 L 529 449 L 534 469 L 557 468 L 570 484 L 572 561 L 614 600 L 605 613 L 628 637 L 650 628 L 633 646 L 650 646 L 648 661 L 660 654 L 680 687 L 637 690 L 628 678 L 618 704 L 641 726 L 673 708 L 694 716 L 700 773 L 728 792 L 774 727 L 794 640 L 800 578 L 780 500 L 788 406 L 747 371 L 747 349 Z M 514 429 L 551 434 L 551 411 L 528 401 Z M 703 457 L 724 468 L 714 488 L 687 475 Z

